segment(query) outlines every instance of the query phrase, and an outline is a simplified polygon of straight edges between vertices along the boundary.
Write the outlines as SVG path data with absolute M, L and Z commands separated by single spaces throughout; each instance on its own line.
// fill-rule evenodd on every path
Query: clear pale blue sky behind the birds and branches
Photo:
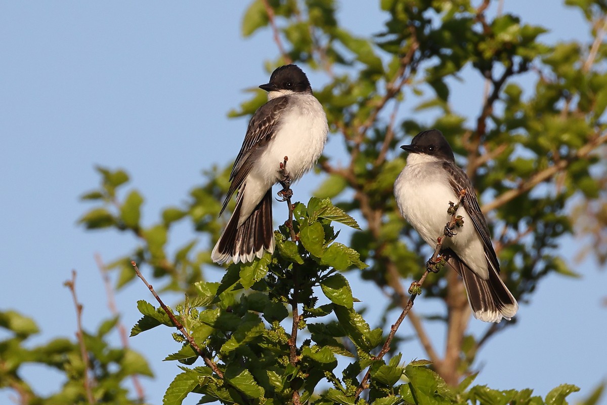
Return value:
M 42 333 L 32 344 L 74 335 L 75 313 L 63 287 L 72 269 L 78 271 L 84 327 L 93 330 L 109 317 L 93 254 L 110 261 L 134 247 L 130 236 L 76 225 L 88 208 L 78 196 L 98 184 L 94 165 L 131 174 L 146 197 L 143 221 L 151 223 L 161 208 L 186 198 L 202 181 L 203 169 L 233 161 L 246 119 L 226 113 L 248 97 L 243 89 L 266 83 L 263 61 L 277 55 L 269 30 L 242 38 L 240 4 L 0 2 L 0 308 L 36 319 Z M 551 30 L 546 42 L 587 40 L 580 14 L 554 4 L 506 2 L 504 10 Z M 385 19 L 375 2 L 363 0 L 344 2 L 339 16 L 362 35 L 377 32 Z M 313 87 L 316 78 L 311 75 Z M 480 92 L 470 87 L 480 85 L 453 87 L 456 111 L 477 114 Z M 331 153 L 339 146 L 328 148 Z M 301 200 L 318 181 L 308 176 L 300 183 Z M 174 237 L 171 243 L 179 243 L 191 230 L 177 228 Z M 566 240 L 563 254 L 571 258 L 576 248 L 577 241 Z M 583 279 L 549 276 L 531 304 L 522 305 L 517 325 L 484 347 L 476 383 L 532 387 L 540 395 L 572 383 L 582 387 L 572 398 L 582 398 L 607 378 L 607 309 L 600 305 L 607 274 L 592 260 L 574 267 Z M 378 291 L 350 279 L 354 295 L 371 305 Z M 139 299 L 152 301 L 138 283 L 117 296 L 127 328 L 140 317 Z M 475 322 L 472 331 L 481 332 L 484 325 Z M 401 329 L 402 335 L 410 332 L 406 322 Z M 433 332 L 442 333 L 431 327 Z M 174 362 L 161 359 L 178 345 L 166 328 L 143 333 L 131 345 L 145 353 L 157 376 L 143 382 L 149 402 L 160 404 L 178 372 Z M 404 359 L 424 356 L 415 343 L 402 352 Z M 49 394 L 61 383 L 58 373 L 44 367 L 25 371 L 36 392 Z M 0 403 L 8 398 L 0 390 Z M 195 396 L 185 401 L 196 402 Z

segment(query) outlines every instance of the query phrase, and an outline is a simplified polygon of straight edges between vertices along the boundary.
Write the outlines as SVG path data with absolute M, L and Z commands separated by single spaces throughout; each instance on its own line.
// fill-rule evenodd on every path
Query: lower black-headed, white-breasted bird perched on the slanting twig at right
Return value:
M 452 237 L 445 237 L 441 254 L 464 281 L 472 315 L 484 322 L 510 320 L 518 303 L 500 277 L 500 264 L 483 216 L 476 192 L 466 175 L 455 163 L 449 142 L 438 129 L 419 132 L 411 145 L 401 146 L 409 152 L 407 164 L 395 181 L 394 194 L 398 208 L 422 239 L 436 247 L 451 219 L 449 202 L 459 200 L 457 214 L 464 219 Z

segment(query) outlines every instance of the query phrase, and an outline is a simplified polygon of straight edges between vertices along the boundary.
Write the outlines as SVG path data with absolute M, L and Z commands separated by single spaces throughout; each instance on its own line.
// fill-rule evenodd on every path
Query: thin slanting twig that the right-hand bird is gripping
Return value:
M 438 238 L 436 238 L 436 248 L 434 250 L 434 253 L 432 254 L 432 257 L 430 257 L 430 260 L 428 260 L 428 264 L 426 265 L 426 271 L 424 271 L 424 274 L 422 274 L 419 281 L 412 282 L 411 287 L 409 287 L 409 293 L 411 294 L 411 296 L 409 297 L 409 301 L 407 302 L 407 305 L 405 305 L 405 307 L 403 308 L 401 315 L 398 317 L 398 319 L 396 319 L 396 322 L 392 325 L 392 327 L 390 327 L 390 333 L 388 334 L 388 337 L 385 339 L 384 345 L 382 346 L 381 350 L 379 351 L 379 354 L 377 356 L 375 356 L 374 360 L 382 359 L 385 356 L 385 354 L 388 353 L 388 351 L 390 350 L 390 342 L 392 342 L 392 339 L 394 338 L 394 335 L 396 335 L 396 331 L 398 330 L 398 327 L 401 325 L 402 321 L 405 319 L 405 316 L 407 316 L 407 314 L 409 313 L 411 308 L 413 308 L 413 301 L 415 301 L 416 296 L 421 294 L 421 286 L 422 286 L 422 284 L 424 284 L 424 281 L 426 281 L 426 277 L 428 276 L 430 271 L 439 270 L 439 269 L 434 270 L 432 265 L 434 265 L 434 267 L 435 267 L 436 264 L 441 262 L 441 260 L 438 259 L 438 256 L 441 252 L 441 249 L 443 248 L 443 242 L 446 237 L 451 237 L 454 235 L 452 231 L 457 226 L 456 223 L 458 223 L 458 220 L 459 220 L 457 218 L 457 210 L 459 208 L 459 205 L 461 204 L 461 200 L 464 198 L 465 195 L 466 195 L 466 190 L 461 190 L 459 192 L 458 202 L 456 204 L 454 204 L 452 208 L 450 208 L 449 212 L 452 212 L 451 220 L 449 221 L 449 223 L 447 223 L 447 226 L 445 226 L 443 236 L 439 236 Z M 368 388 L 368 380 L 370 377 L 371 377 L 371 367 L 369 367 L 369 369 L 367 370 L 367 373 L 365 373 L 365 376 L 362 378 L 361 384 L 359 384 L 358 388 L 356 389 L 356 398 L 358 398 L 358 396 L 361 395 L 361 392 L 363 390 Z

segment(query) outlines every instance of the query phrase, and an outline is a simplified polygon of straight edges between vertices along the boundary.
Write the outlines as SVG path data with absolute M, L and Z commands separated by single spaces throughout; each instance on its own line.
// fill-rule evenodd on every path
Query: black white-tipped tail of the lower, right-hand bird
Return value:
M 489 279 L 483 280 L 455 254 L 449 254 L 447 262 L 464 280 L 468 302 L 476 319 L 484 322 L 500 322 L 502 318 L 512 319 L 517 313 L 517 300 L 491 265 L 487 266 Z

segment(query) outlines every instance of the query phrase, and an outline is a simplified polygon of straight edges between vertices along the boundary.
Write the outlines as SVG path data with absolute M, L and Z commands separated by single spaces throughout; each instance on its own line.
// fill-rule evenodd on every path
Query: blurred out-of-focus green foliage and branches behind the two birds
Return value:
M 594 255 L 605 263 L 607 3 L 566 0 L 567 7 L 585 16 L 592 41 L 552 44 L 542 41 L 546 30 L 527 24 L 524 16 L 501 13 L 501 7 L 487 13 L 495 3 L 382 0 L 385 25 L 368 38 L 340 24 L 331 0 L 255 0 L 243 13 L 245 37 L 260 29 L 274 33 L 277 55 L 266 62 L 268 73 L 296 63 L 325 78 L 324 86 L 313 87 L 314 94 L 327 111 L 330 142 L 341 149 L 321 158 L 317 170 L 322 183 L 314 194 L 331 199 L 361 225 L 361 230 L 344 232 L 349 240 L 341 240 L 368 267 L 348 267 L 344 275 L 378 285 L 385 293 L 385 314 L 404 307 L 409 299 L 404 286 L 419 277 L 429 257 L 428 248 L 399 216 L 392 196 L 404 166 L 398 146 L 428 128 L 443 131 L 473 180 L 504 281 L 520 302 L 532 305 L 535 288 L 548 274 L 577 276 L 559 253 L 565 236 L 587 242 L 580 257 Z M 485 81 L 482 94 L 470 94 L 484 100 L 473 117 L 455 112 L 452 101 L 453 83 L 462 80 L 464 70 Z M 262 90 L 253 90 L 230 115 L 253 114 L 265 97 Z M 404 117 L 405 102 L 415 104 L 419 115 Z M 227 219 L 218 219 L 218 214 L 230 169 L 207 168 L 205 181 L 185 201 L 166 207 L 156 223 L 144 226 L 144 196 L 127 188 L 129 175 L 97 168 L 100 186 L 82 197 L 94 207 L 80 223 L 88 230 L 131 233 L 138 240 L 134 250 L 107 265 L 118 271 L 116 288 L 133 281 L 135 260 L 151 274 L 158 291 L 200 294 L 195 286 L 206 281 L 211 248 Z M 296 199 L 305 200 L 296 186 L 294 190 Z M 277 223 L 282 223 L 281 212 L 275 209 Z M 192 223 L 205 237 L 169 251 L 169 234 L 182 222 Z M 454 272 L 429 277 L 422 299 L 443 305 L 423 316 L 412 310 L 406 321 L 414 331 L 410 338 L 421 342 L 424 352 L 418 357 L 429 359 L 449 386 L 473 375 L 478 350 L 516 322 L 470 333 L 470 310 Z M 385 333 L 393 319 L 384 315 L 381 322 Z M 427 333 L 429 322 L 444 324 L 444 338 Z M 129 376 L 150 374 L 143 356 L 127 347 L 109 347 L 104 339 L 118 327 L 117 317 L 97 331 L 81 331 L 80 341 L 56 339 L 34 349 L 23 344 L 37 330 L 32 319 L 5 311 L 0 324 L 12 334 L 0 345 L 0 386 L 14 390 L 19 403 L 85 401 L 80 382 L 86 381 L 86 373 L 97 381 L 97 402 L 143 401 L 123 388 Z M 81 342 L 89 361 L 83 360 Z M 398 342 L 392 344 L 391 355 L 398 352 Z M 67 383 L 55 396 L 39 398 L 19 376 L 19 367 L 27 362 L 56 367 L 66 373 Z M 588 403 L 598 400 L 600 390 Z

